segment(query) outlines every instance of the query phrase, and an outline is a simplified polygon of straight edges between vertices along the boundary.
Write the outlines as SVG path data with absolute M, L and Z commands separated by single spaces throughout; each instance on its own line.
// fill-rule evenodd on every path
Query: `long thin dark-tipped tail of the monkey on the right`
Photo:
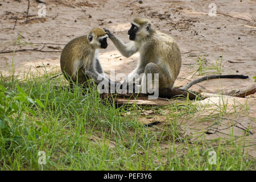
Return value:
M 197 84 L 197 83 L 199 83 L 201 81 L 204 81 L 204 80 L 210 80 L 210 79 L 214 79 L 214 78 L 241 78 L 241 79 L 246 79 L 246 78 L 248 78 L 248 76 L 245 76 L 245 75 L 211 75 L 211 76 L 204 76 L 204 77 L 197 78 L 196 80 L 193 80 L 193 81 L 189 82 L 187 85 L 183 86 L 183 88 L 181 88 L 181 89 L 187 90 L 187 89 L 191 88 L 191 86 L 194 85 L 194 84 Z

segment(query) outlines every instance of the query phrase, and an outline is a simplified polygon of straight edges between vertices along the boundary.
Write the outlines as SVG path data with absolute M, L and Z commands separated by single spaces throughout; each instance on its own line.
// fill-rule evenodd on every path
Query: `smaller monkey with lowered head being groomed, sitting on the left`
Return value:
M 71 40 L 63 49 L 60 56 L 60 67 L 71 88 L 73 82 L 80 85 L 90 84 L 92 79 L 96 84 L 102 80 L 110 81 L 104 73 L 98 60 L 98 49 L 108 47 L 108 35 L 102 28 L 93 28 L 88 35 Z

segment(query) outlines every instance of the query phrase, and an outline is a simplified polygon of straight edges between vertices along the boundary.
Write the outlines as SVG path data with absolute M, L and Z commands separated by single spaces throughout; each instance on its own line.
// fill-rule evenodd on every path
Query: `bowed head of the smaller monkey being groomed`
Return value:
M 93 28 L 88 35 L 89 44 L 96 49 L 107 48 L 107 38 L 108 35 L 102 28 Z

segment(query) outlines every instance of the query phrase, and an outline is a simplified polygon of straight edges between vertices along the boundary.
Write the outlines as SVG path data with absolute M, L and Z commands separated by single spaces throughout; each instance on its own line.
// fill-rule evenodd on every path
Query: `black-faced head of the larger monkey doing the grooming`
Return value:
M 129 39 L 140 41 L 150 35 L 151 22 L 146 18 L 134 18 L 128 31 Z

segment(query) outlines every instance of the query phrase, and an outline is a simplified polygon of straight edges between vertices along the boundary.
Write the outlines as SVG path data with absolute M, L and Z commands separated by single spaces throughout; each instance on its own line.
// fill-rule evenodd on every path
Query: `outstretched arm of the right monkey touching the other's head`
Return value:
M 138 48 L 135 46 L 134 42 L 129 42 L 127 44 L 123 43 L 122 40 L 119 40 L 116 36 L 114 36 L 108 29 L 104 28 L 106 34 L 108 34 L 109 38 L 114 43 L 115 47 L 117 47 L 118 51 L 125 57 L 130 57 L 135 52 L 138 51 Z

